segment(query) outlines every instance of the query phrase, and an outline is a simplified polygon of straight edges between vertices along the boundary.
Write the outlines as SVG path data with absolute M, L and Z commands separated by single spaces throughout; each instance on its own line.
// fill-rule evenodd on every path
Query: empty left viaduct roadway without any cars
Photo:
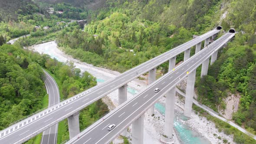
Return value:
M 31 137 L 39 134 L 40 132 L 50 128 L 59 121 L 68 118 L 92 102 L 102 98 L 110 92 L 113 92 L 117 88 L 125 85 L 131 80 L 135 79 L 139 75 L 148 72 L 149 70 L 161 65 L 174 56 L 177 56 L 186 49 L 200 43 L 204 39 L 218 33 L 220 30 L 214 29 L 208 33 L 203 34 L 195 39 L 190 40 L 187 43 L 177 46 L 168 52 L 161 54 L 135 68 L 124 72 L 114 79 L 111 79 L 102 85 L 96 85 L 95 87 L 86 90 L 78 95 L 73 96 L 65 101 L 60 102 L 58 105 L 48 108 L 38 114 L 35 114 L 19 123 L 13 124 L 7 129 L 0 131 L 0 143 L 22 143 L 30 139 Z

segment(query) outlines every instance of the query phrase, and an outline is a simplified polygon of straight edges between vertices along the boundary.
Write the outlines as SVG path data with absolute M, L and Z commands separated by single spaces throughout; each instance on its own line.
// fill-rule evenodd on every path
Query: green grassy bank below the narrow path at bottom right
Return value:
M 233 141 L 237 144 L 256 144 L 256 140 L 254 140 L 252 137 L 249 137 L 247 134 L 244 134 L 225 121 L 221 121 L 220 119 L 213 117 L 197 105 L 193 104 L 192 108 L 194 111 L 199 112 L 199 116 L 203 116 L 207 118 L 208 121 L 212 121 L 220 132 L 223 131 L 227 135 L 233 134 Z

